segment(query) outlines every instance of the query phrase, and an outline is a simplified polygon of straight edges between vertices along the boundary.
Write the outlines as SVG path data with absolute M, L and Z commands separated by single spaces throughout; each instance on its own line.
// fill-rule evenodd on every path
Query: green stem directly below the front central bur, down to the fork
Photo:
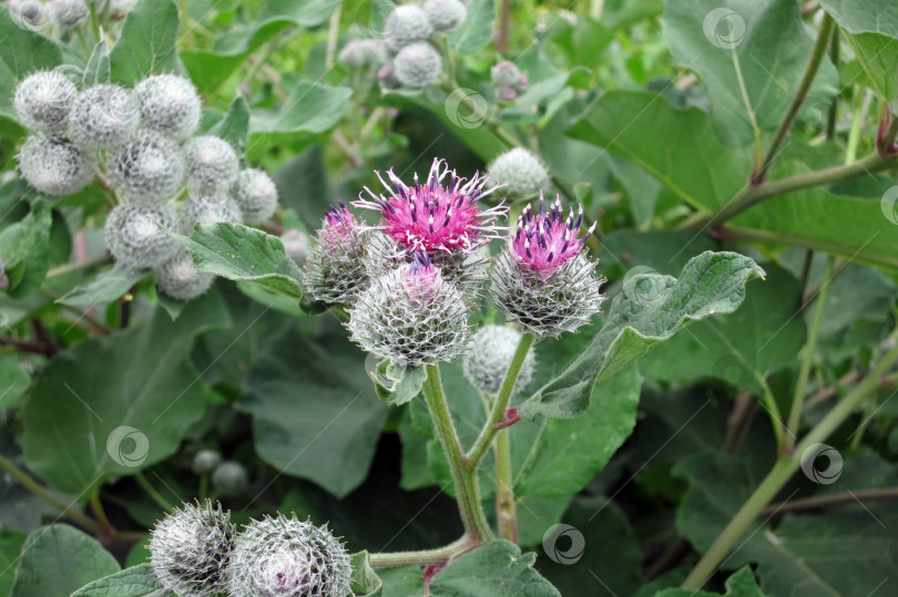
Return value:
M 469 469 L 467 459 L 461 452 L 452 415 L 449 413 L 449 404 L 447 404 L 446 394 L 442 391 L 439 366 L 427 366 L 424 394 L 427 406 L 430 409 L 430 416 L 433 419 L 437 438 L 446 453 L 446 460 L 449 462 L 449 472 L 455 484 L 465 535 L 473 546 L 482 545 L 492 541 L 493 534 L 483 514 L 483 505 L 480 503 L 477 470 Z

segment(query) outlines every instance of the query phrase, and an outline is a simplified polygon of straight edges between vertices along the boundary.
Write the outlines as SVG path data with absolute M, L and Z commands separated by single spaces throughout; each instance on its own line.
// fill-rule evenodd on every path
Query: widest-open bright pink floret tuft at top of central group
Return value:
M 365 187 L 374 200 L 359 199 L 354 205 L 380 212 L 384 222 L 379 229 L 406 251 L 470 254 L 499 236 L 501 228 L 493 223 L 507 208 L 500 204 L 481 209 L 478 204 L 478 199 L 497 188 L 483 189 L 487 176 L 478 173 L 466 182 L 442 159 L 433 159 L 424 184 L 416 174 L 415 184 L 407 186 L 392 169 L 387 173 L 391 184 L 387 184 L 380 173 L 377 176 L 389 195 L 376 195 Z

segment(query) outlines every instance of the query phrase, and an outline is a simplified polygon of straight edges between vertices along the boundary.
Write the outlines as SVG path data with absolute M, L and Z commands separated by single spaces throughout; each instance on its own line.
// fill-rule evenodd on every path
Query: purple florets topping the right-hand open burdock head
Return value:
M 575 257 L 595 229 L 593 224 L 585 236 L 576 238 L 582 220 L 582 205 L 578 208 L 576 219 L 573 209 L 565 219 L 560 198 L 547 214 L 545 202 L 540 196 L 540 213 L 533 214 L 528 204 L 518 218 L 518 229 L 511 239 L 514 259 L 537 271 L 541 278 L 548 277 L 559 266 Z

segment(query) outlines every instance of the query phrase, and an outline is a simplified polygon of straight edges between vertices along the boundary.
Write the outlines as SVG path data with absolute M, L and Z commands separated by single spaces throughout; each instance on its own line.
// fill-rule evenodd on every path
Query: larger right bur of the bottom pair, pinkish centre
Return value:
M 296 516 L 265 517 L 237 536 L 226 570 L 229 595 L 344 597 L 353 567 L 343 544 L 328 531 Z

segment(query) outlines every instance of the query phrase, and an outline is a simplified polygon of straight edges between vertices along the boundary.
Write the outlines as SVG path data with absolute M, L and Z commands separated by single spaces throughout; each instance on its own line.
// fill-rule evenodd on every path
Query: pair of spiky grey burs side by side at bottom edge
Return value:
M 212 503 L 160 521 L 147 545 L 156 580 L 178 597 L 347 597 L 353 567 L 328 531 L 278 514 L 237 532 Z M 166 593 L 167 595 L 167 593 Z

